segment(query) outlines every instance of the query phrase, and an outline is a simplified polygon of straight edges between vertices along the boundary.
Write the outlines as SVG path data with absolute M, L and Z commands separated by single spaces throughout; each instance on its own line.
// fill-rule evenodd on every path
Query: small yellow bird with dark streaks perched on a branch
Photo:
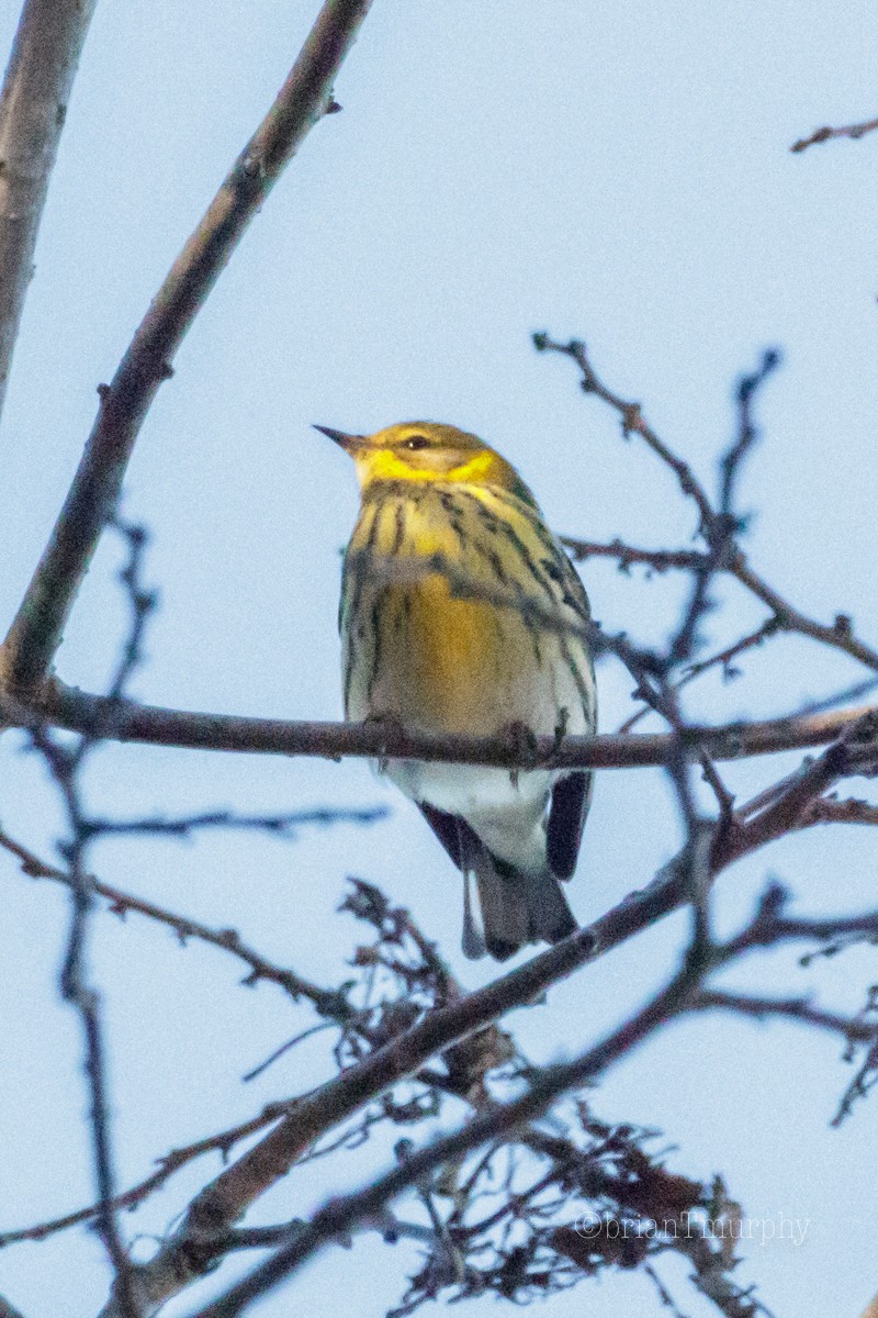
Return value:
M 590 606 L 515 467 L 465 430 L 316 426 L 353 460 L 359 517 L 344 555 L 345 717 L 407 730 L 592 734 Z M 571 878 L 591 800 L 584 770 L 388 759 L 463 874 L 463 953 L 505 961 L 578 925 Z M 480 919 L 471 896 L 475 883 Z

